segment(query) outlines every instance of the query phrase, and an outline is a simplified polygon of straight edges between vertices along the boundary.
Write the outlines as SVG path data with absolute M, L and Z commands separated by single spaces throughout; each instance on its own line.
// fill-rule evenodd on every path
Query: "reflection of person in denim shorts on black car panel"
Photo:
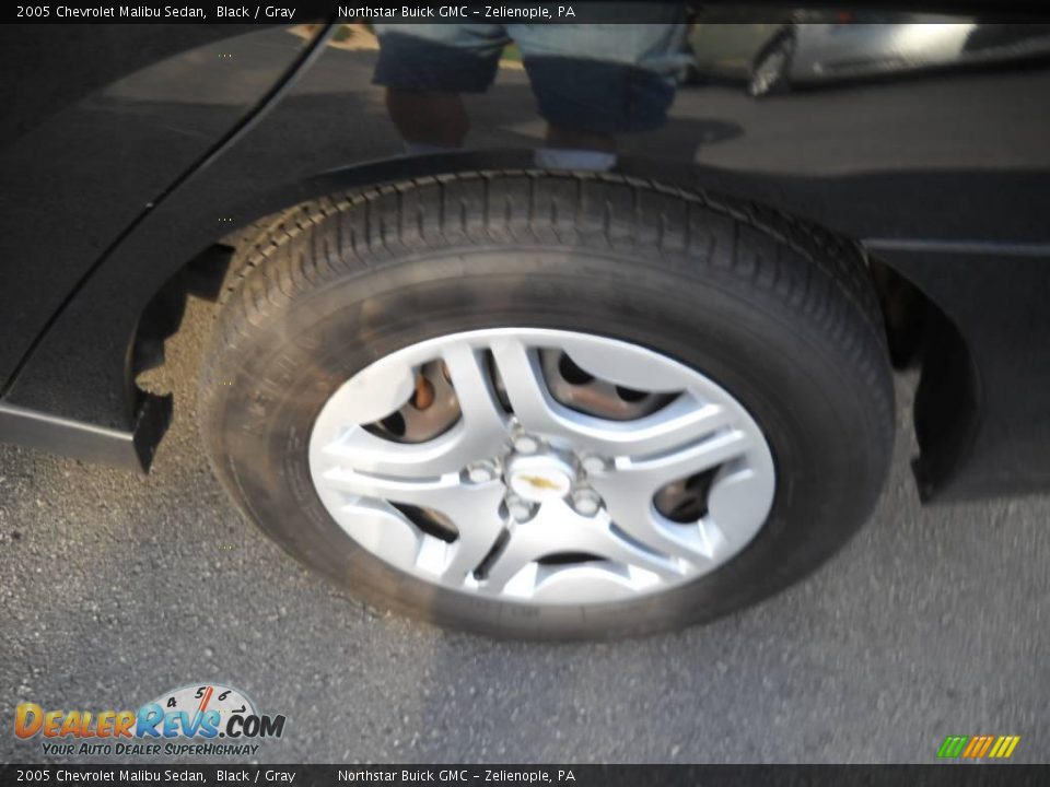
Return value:
M 387 108 L 409 153 L 452 150 L 467 134 L 460 94 L 488 90 L 513 40 L 547 120 L 537 164 L 609 169 L 616 136 L 658 128 L 674 101 L 684 12 L 657 8 L 661 24 L 376 25 L 374 81 L 387 87 Z

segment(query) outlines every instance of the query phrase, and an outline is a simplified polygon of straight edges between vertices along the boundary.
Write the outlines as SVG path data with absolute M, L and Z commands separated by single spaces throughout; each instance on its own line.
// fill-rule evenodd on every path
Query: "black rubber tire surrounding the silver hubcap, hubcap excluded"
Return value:
M 883 486 L 894 398 L 866 267 L 780 214 L 615 176 L 460 175 L 285 212 L 240 265 L 200 384 L 214 470 L 290 554 L 377 607 L 515 638 L 708 621 L 819 565 Z M 730 391 L 775 467 L 754 539 L 662 592 L 586 604 L 447 589 L 351 539 L 312 479 L 318 413 L 377 359 L 495 328 L 612 338 Z

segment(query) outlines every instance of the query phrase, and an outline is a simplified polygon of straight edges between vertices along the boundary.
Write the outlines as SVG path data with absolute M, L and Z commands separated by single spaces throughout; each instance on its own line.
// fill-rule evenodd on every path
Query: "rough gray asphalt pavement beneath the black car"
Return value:
M 0 448 L 0 761 L 39 757 L 20 702 L 195 681 L 287 714 L 269 761 L 931 762 L 949 733 L 1050 760 L 1050 500 L 920 509 L 907 383 L 882 505 L 807 582 L 678 634 L 494 643 L 362 610 L 241 519 L 195 427 L 207 314 L 170 342 L 149 478 Z

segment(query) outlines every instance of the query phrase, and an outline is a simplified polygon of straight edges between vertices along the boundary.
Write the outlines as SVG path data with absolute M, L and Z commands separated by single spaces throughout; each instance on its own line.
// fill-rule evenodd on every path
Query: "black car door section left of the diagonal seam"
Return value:
M 0 27 L 0 379 L 127 227 L 304 46 L 247 25 L 163 33 Z

